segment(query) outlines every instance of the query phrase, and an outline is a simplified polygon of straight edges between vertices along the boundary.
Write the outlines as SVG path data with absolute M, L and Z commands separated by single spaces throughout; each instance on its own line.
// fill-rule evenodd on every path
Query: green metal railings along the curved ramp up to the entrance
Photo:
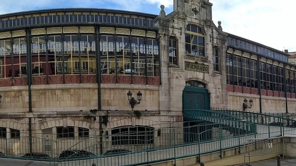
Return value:
M 223 150 L 234 147 L 240 153 L 242 144 L 247 139 L 296 135 L 296 128 L 291 123 L 296 124 L 295 120 L 284 116 L 257 112 L 184 110 L 184 122 L 154 124 L 145 126 L 145 130 L 141 131 L 135 131 L 134 126 L 129 126 L 117 128 L 122 129 L 120 133 L 112 133 L 110 130 L 90 131 L 102 132 L 103 136 L 79 137 L 78 133 L 74 133 L 73 138 L 57 138 L 53 134 L 49 136 L 52 139 L 33 133 L 33 152 L 48 154 L 50 158 L 30 159 L 63 166 L 92 163 L 102 166 L 136 166 L 192 156 L 199 156 L 201 162 L 202 155 L 207 153 L 222 153 Z M 5 154 L 0 157 L 28 159 L 22 157 L 29 153 L 28 140 L 29 137 L 0 138 L 0 151 Z M 91 155 L 61 158 L 62 151 L 73 149 L 78 149 L 78 153 L 83 154 L 86 154 L 84 151 L 91 152 Z M 120 150 L 125 151 L 115 153 Z M 111 151 L 114 153 L 108 153 Z

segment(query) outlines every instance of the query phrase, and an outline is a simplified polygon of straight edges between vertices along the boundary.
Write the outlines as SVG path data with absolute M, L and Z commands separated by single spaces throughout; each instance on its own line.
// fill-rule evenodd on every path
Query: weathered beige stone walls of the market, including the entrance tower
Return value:
M 210 94 L 211 107 L 241 110 L 244 98 L 252 98 L 254 104 L 249 110 L 258 111 L 258 95 L 227 91 L 225 66 L 228 34 L 223 32 L 221 22 L 218 22 L 218 27 L 213 23 L 212 5 L 208 0 L 174 0 L 174 11 L 169 14 L 166 14 L 165 7 L 161 6 L 160 15 L 154 20 L 155 27 L 159 29 L 157 38 L 161 55 L 161 85 L 102 83 L 101 94 L 96 83 L 33 85 L 30 90 L 28 86 L 0 87 L 0 128 L 7 129 L 6 139 L 0 139 L 0 151 L 11 155 L 28 153 L 29 130 L 32 130 L 33 151 L 48 151 L 52 156 L 73 148 L 87 148 L 96 154 L 118 148 L 119 146 L 111 144 L 110 135 L 112 129 L 122 126 L 153 128 L 152 135 L 156 142 L 149 146 L 161 147 L 171 144 L 170 141 L 174 141 L 174 144 L 182 143 L 182 94 L 187 81 L 205 84 L 205 89 Z M 186 52 L 187 25 L 201 28 L 200 34 L 204 36 L 204 56 L 194 56 Z M 170 39 L 177 41 L 177 64 L 169 63 Z M 213 49 L 218 50 L 219 70 L 214 70 Z M 207 71 L 188 70 L 188 63 L 201 64 L 207 67 Z M 136 117 L 131 109 L 127 99 L 128 91 L 131 91 L 135 98 L 138 91 L 143 94 L 141 103 L 134 108 L 141 112 L 140 117 Z M 295 101 L 296 99 L 287 99 L 291 112 L 296 112 Z M 262 96 L 261 102 L 262 111 L 286 110 L 286 99 L 283 97 Z M 105 124 L 102 124 L 102 121 L 105 121 Z M 58 138 L 57 127 L 60 126 L 73 127 L 74 138 Z M 78 132 L 81 128 L 89 130 L 89 137 L 80 137 Z M 13 138 L 10 133 L 12 129 L 19 130 L 19 139 Z M 102 133 L 99 130 L 102 130 Z M 98 141 L 103 141 L 103 145 L 98 147 Z M 46 145 L 51 146 L 50 151 L 45 150 Z M 147 145 L 126 145 L 120 148 L 136 150 L 144 146 Z

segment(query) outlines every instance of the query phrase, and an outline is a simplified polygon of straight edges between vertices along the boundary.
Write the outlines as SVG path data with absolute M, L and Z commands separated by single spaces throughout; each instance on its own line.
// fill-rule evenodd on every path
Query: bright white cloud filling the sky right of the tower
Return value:
M 223 31 L 272 48 L 296 51 L 295 0 L 210 0 Z

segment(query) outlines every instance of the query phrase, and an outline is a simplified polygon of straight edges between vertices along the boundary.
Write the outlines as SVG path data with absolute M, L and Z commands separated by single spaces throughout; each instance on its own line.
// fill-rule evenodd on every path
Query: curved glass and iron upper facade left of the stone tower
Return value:
M 153 15 L 92 12 L 3 15 L 0 86 L 97 83 L 98 77 L 101 83 L 160 85 Z

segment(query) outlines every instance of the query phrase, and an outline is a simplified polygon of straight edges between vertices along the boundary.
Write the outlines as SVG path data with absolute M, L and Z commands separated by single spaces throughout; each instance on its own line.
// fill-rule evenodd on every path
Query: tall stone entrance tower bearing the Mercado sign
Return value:
M 194 14 L 192 8 L 199 11 Z M 163 6 L 162 6 L 163 8 Z M 162 59 L 162 87 L 160 88 L 160 106 L 171 111 L 182 110 L 182 93 L 186 81 L 196 80 L 206 84 L 210 93 L 212 107 L 227 107 L 227 92 L 225 75 L 226 43 L 223 41 L 227 35 L 223 33 L 212 21 L 212 4 L 208 1 L 188 0 L 174 1 L 174 11 L 165 14 L 164 8 L 160 16 L 155 19 L 159 27 L 160 47 Z M 196 25 L 202 28 L 205 35 L 205 56 L 192 56 L 186 54 L 185 31 L 186 25 Z M 221 26 L 220 26 L 221 27 Z M 178 65 L 169 64 L 168 40 L 176 38 L 178 41 Z M 213 48 L 218 48 L 221 70 L 213 70 Z M 208 73 L 185 70 L 185 62 L 199 62 L 209 66 Z

